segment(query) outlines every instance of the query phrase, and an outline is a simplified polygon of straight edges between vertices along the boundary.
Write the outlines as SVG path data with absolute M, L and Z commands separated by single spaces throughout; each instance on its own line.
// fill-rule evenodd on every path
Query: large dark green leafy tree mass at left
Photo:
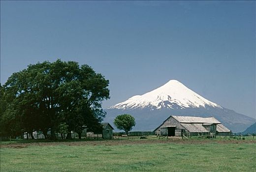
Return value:
M 56 139 L 55 133 L 65 129 L 69 139 L 71 131 L 81 137 L 84 127 L 99 131 L 108 85 L 86 64 L 60 59 L 31 64 L 0 86 L 0 136 L 42 131 L 45 138 Z

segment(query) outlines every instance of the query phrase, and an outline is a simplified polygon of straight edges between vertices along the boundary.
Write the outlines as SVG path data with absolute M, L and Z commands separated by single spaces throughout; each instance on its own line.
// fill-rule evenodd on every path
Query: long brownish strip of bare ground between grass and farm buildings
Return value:
M 179 138 L 166 139 L 127 139 L 127 140 L 95 140 L 95 141 L 74 141 L 74 142 L 36 142 L 36 143 L 11 143 L 1 144 L 0 148 L 26 148 L 28 146 L 52 146 L 52 145 L 68 145 L 68 146 L 84 146 L 84 145 L 124 145 L 124 144 L 151 144 L 151 143 L 181 143 L 181 144 L 204 144 L 204 143 L 256 143 L 256 140 L 182 140 Z

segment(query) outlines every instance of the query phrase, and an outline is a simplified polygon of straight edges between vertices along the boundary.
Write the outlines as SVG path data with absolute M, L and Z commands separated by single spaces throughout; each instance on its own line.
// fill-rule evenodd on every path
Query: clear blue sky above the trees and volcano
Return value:
M 108 107 L 176 79 L 256 117 L 255 1 L 1 1 L 0 82 L 74 60 L 110 81 Z

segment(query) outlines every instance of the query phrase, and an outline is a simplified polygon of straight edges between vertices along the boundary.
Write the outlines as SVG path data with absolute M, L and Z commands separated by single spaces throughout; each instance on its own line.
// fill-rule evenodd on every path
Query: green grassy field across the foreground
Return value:
M 1 172 L 255 172 L 255 143 L 32 145 L 0 149 Z

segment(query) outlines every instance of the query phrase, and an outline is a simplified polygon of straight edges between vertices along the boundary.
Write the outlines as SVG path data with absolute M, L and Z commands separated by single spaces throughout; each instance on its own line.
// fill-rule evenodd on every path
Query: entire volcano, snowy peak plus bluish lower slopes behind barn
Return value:
M 135 117 L 133 130 L 148 131 L 157 128 L 170 115 L 214 116 L 233 132 L 244 131 L 256 119 L 238 114 L 198 95 L 177 80 L 143 95 L 136 95 L 105 110 L 104 121 L 112 123 L 120 114 Z

